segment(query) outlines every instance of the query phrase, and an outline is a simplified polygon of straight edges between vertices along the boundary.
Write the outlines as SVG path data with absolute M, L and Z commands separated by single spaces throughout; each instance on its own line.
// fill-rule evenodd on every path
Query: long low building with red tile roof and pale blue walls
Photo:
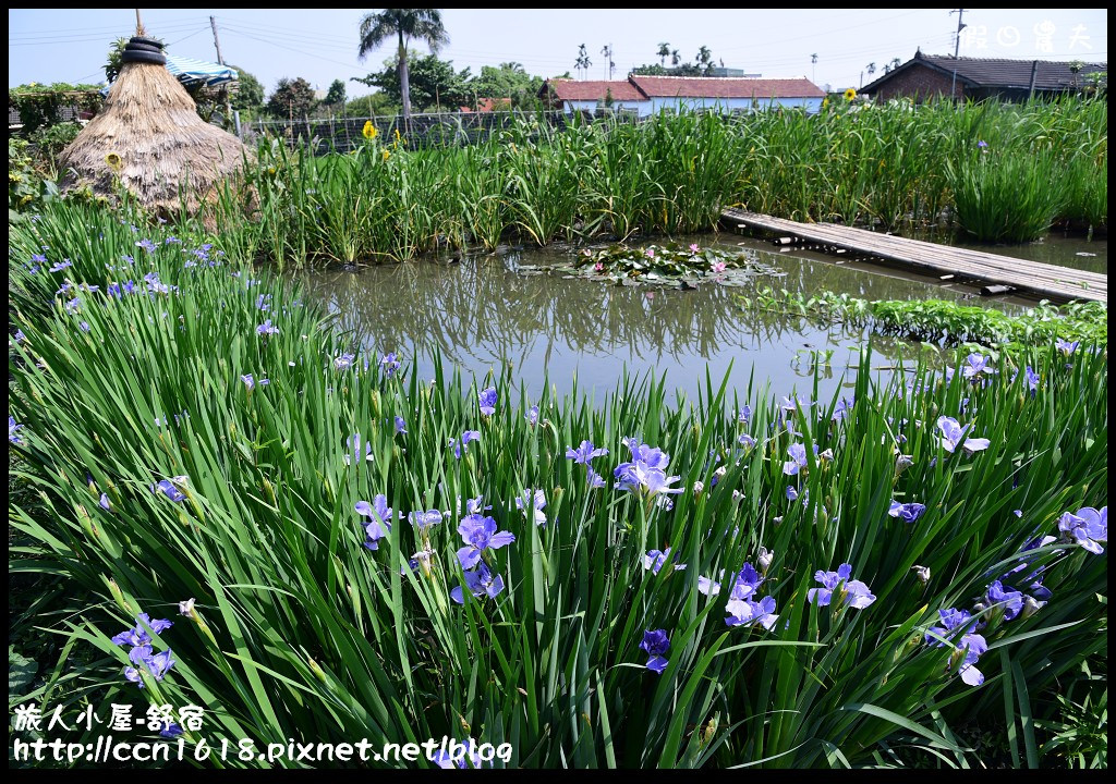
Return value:
M 594 112 L 610 104 L 641 117 L 667 109 L 752 112 L 775 107 L 820 110 L 825 91 L 806 77 L 628 76 L 625 80 L 548 79 L 539 97 L 567 114 Z M 610 98 L 610 100 L 609 100 Z

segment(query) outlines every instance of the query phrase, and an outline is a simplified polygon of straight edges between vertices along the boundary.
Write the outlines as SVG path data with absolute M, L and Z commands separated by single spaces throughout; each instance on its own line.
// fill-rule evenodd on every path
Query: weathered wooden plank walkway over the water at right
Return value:
M 955 275 L 988 284 L 1010 285 L 1020 292 L 1058 302 L 1108 302 L 1108 275 L 1042 264 L 995 253 L 907 240 L 835 223 L 798 223 L 742 210 L 724 210 L 721 219 L 740 228 L 762 229 L 852 252 L 905 264 L 936 277 Z

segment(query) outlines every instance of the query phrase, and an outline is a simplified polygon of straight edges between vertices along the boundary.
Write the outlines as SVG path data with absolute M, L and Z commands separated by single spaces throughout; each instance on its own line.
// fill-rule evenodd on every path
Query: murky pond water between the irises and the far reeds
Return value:
M 971 299 L 971 290 L 944 288 L 894 270 L 810 259 L 798 252 L 731 234 L 684 238 L 702 245 L 741 248 L 777 274 L 762 274 L 753 287 L 812 293 L 848 292 L 866 299 Z M 770 379 L 772 391 L 797 387 L 810 393 L 811 352 L 822 352 L 819 395 L 833 394 L 846 367 L 856 362 L 865 336 L 843 325 L 818 327 L 798 317 L 745 310 L 739 298 L 752 287 L 702 285 L 696 290 L 620 287 L 560 273 L 522 274 L 519 265 L 552 264 L 556 250 L 509 250 L 465 258 L 460 263 L 421 262 L 315 271 L 300 279 L 311 298 L 336 314 L 338 327 L 373 352 L 396 351 L 430 377 L 431 349 L 483 377 L 490 368 L 511 368 L 536 399 L 549 383 L 559 394 L 575 383 L 598 401 L 625 369 L 633 375 L 666 374 L 667 389 L 695 399 L 705 369 L 714 383 L 747 389 Z M 567 257 L 568 258 L 568 257 Z M 1012 306 L 1000 303 L 1011 309 Z M 875 366 L 917 350 L 877 338 Z M 833 351 L 825 361 L 826 351 Z M 847 374 L 846 384 L 852 384 Z

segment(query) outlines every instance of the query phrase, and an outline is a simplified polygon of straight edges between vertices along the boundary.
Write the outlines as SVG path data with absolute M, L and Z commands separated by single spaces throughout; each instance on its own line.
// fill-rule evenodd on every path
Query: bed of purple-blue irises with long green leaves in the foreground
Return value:
M 869 346 L 831 399 L 531 400 L 363 355 L 244 245 L 175 239 L 65 204 L 13 226 L 9 443 L 45 504 L 9 502 L 10 571 L 92 592 L 58 625 L 99 651 L 81 681 L 205 706 L 191 747 L 968 766 L 975 722 L 1038 765 L 1031 695 L 1107 650 L 1106 346 L 887 375 Z

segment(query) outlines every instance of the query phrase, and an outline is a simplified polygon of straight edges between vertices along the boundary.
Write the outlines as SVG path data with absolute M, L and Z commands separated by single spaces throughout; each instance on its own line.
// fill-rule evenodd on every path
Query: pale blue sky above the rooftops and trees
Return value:
M 215 17 L 225 62 L 253 74 L 268 93 L 282 77 L 302 77 L 318 89 L 346 81 L 349 97 L 372 91 L 349 81 L 379 70 L 383 47 L 357 59 L 360 17 L 376 9 L 141 9 L 150 35 L 167 51 L 217 60 Z M 610 45 L 622 79 L 657 62 L 660 42 L 683 61 L 709 47 L 714 61 L 764 77 L 805 76 L 838 90 L 860 87 L 893 58 L 916 48 L 953 54 L 958 14 L 951 9 L 444 9 L 450 45 L 440 52 L 459 70 L 519 62 L 542 77 L 576 75 L 578 45 L 593 61 L 588 78 L 608 78 L 600 50 Z M 962 56 L 1107 62 L 1104 9 L 965 9 Z M 109 45 L 135 29 L 134 9 L 9 9 L 8 85 L 97 83 Z M 417 45 L 425 54 L 423 45 Z M 817 64 L 812 56 L 817 55 Z M 870 76 L 868 65 L 877 68 Z

